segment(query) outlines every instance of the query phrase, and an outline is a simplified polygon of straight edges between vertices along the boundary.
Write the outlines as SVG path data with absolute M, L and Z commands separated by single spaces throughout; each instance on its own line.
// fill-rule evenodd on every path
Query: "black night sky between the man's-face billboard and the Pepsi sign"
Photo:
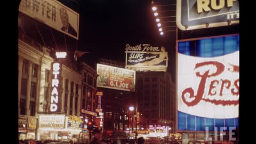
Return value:
M 169 70 L 174 74 L 175 33 L 159 35 L 151 6 L 148 0 L 81 1 L 78 50 L 89 51 L 84 55 L 87 59 L 125 62 L 125 44 L 163 45 L 169 52 Z M 166 7 L 171 8 L 175 9 Z

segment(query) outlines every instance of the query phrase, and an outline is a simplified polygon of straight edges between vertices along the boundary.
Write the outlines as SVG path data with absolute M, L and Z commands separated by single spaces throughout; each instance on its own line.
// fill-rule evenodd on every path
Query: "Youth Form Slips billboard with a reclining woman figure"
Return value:
M 125 45 L 125 68 L 137 71 L 166 71 L 168 53 L 164 46 L 150 44 Z

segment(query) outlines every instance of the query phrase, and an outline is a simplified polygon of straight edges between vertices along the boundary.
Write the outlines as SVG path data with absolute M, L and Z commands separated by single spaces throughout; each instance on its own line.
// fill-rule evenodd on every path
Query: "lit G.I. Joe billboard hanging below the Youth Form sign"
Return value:
M 97 87 L 135 91 L 135 71 L 97 63 Z

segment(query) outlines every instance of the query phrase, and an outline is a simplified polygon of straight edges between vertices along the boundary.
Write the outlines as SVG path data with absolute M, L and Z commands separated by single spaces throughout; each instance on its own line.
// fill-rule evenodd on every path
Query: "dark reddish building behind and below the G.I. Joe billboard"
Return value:
M 98 63 L 103 65 L 124 68 L 125 63 L 99 59 Z M 135 92 L 106 89 L 98 87 L 98 91 L 102 91 L 101 105 L 104 113 L 103 132 L 106 135 L 111 135 L 112 138 L 126 137 L 125 132 L 130 127 L 132 130 L 132 123 L 129 118 L 132 117 L 130 106 L 135 106 Z M 130 125 L 129 125 L 130 122 Z

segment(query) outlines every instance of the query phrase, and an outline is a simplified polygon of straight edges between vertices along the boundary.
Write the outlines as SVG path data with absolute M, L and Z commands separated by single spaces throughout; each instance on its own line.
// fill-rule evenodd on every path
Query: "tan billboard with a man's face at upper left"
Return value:
M 78 39 L 79 14 L 55 0 L 21 0 L 19 11 Z

